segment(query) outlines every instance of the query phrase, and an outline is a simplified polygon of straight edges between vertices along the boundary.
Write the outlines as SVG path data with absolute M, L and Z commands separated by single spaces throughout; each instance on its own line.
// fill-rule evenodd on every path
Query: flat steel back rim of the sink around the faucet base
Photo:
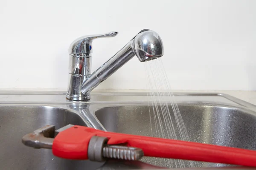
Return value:
M 91 100 L 86 102 L 67 100 L 63 91 L 0 91 L 0 104 L 43 104 L 43 105 L 59 105 L 59 104 L 119 104 L 119 103 L 136 103 L 148 102 L 148 93 L 150 92 L 91 92 Z M 169 92 L 164 92 L 165 97 Z M 238 99 L 234 96 L 224 93 L 198 93 L 198 92 L 174 92 L 177 97 L 209 97 L 220 96 L 222 99 L 227 99 L 237 105 L 251 108 L 256 111 L 256 105 L 253 105 L 244 100 Z M 134 99 L 138 98 L 138 100 Z M 200 100 L 199 100 L 200 101 Z

